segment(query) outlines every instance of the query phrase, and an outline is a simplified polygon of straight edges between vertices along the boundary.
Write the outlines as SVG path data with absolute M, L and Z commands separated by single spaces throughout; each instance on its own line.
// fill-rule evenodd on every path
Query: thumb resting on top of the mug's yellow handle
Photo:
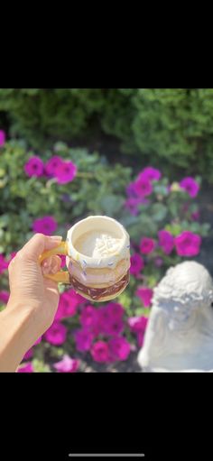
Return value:
M 29 259 L 38 259 L 40 254 L 43 253 L 44 250 L 51 250 L 56 246 L 60 245 L 62 237 L 60 235 L 43 235 L 43 234 L 35 234 L 32 238 L 25 244 L 21 250 L 23 256 Z

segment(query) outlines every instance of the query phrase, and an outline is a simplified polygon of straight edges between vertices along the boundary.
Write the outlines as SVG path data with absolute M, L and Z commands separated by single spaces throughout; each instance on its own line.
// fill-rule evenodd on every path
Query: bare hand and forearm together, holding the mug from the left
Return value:
M 60 257 L 38 258 L 60 236 L 33 235 L 8 267 L 10 298 L 0 312 L 0 372 L 15 372 L 23 355 L 51 327 L 59 305 L 58 284 L 44 277 L 60 270 Z

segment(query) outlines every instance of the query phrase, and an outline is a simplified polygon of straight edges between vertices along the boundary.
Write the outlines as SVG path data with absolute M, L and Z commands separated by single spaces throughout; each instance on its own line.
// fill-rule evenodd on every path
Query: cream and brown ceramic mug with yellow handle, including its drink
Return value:
M 113 300 L 129 282 L 129 235 L 112 217 L 82 219 L 70 227 L 66 242 L 41 254 L 40 263 L 52 254 L 66 254 L 68 271 L 45 277 L 69 283 L 87 300 Z

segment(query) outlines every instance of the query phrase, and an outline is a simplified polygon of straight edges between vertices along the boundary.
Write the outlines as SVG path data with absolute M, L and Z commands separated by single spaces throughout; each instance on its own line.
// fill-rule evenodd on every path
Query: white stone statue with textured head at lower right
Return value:
M 213 372 L 213 281 L 203 265 L 177 264 L 154 289 L 138 363 L 144 372 Z

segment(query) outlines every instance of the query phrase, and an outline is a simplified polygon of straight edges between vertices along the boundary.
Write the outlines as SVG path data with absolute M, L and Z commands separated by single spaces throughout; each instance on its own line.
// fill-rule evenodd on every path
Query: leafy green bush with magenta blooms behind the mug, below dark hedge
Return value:
M 78 168 L 76 176 L 64 184 L 59 183 L 57 171 L 48 177 L 47 161 L 52 153 L 63 161 L 72 161 Z M 57 317 L 42 342 L 24 357 L 23 372 L 74 372 L 78 367 L 84 371 L 83 364 L 91 360 L 107 364 L 108 351 L 113 354 L 111 361 L 124 361 L 143 344 L 153 287 L 170 265 L 199 254 L 200 235 L 208 235 L 209 226 L 199 223 L 194 203 L 200 179 L 170 184 L 160 171 L 148 168 L 138 171 L 133 180 L 129 168 L 120 164 L 112 168 L 97 152 L 70 149 L 66 143 L 56 143 L 52 151 L 43 152 L 40 163 L 45 162 L 46 167 L 42 175 L 29 176 L 29 168 L 24 165 L 29 166 L 33 156 L 22 141 L 7 142 L 0 150 L 2 309 L 8 298 L 8 263 L 32 236 L 35 221 L 38 225 L 37 219 L 43 221 L 43 217 L 51 217 L 55 232 L 63 238 L 67 229 L 83 217 L 116 217 L 131 237 L 132 275 L 128 287 L 114 302 L 98 305 L 88 305 L 74 290 L 61 285 Z M 108 316 L 104 324 L 100 322 L 103 313 Z M 96 333 L 94 324 L 90 329 L 85 327 L 91 318 L 92 322 L 98 319 Z M 57 344 L 56 329 L 60 331 Z M 55 365 L 60 359 L 62 363 Z

